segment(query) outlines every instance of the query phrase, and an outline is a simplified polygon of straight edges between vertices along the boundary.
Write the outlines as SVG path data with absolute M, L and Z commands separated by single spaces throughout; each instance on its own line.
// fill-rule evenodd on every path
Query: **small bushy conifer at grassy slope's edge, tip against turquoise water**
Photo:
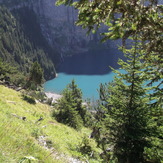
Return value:
M 82 92 L 77 88 L 74 80 L 64 89 L 62 96 L 58 101 L 58 113 L 54 115 L 59 122 L 77 130 L 81 129 L 87 120 L 88 113 L 82 105 Z

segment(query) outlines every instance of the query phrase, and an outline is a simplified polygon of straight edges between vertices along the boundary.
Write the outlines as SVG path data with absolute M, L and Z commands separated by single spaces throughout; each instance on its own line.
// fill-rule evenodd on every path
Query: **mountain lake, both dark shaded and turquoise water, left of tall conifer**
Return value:
M 73 79 L 83 92 L 83 98 L 98 99 L 100 83 L 113 80 L 114 73 L 109 66 L 118 69 L 118 57 L 123 58 L 116 49 L 89 52 L 67 57 L 57 68 L 58 77 L 44 84 L 46 92 L 61 94 Z

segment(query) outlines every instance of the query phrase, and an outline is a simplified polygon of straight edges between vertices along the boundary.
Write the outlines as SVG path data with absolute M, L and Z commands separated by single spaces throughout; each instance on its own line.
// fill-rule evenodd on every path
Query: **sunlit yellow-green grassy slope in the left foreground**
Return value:
M 77 132 L 56 122 L 50 111 L 49 106 L 29 104 L 19 92 L 0 85 L 0 162 L 19 162 L 24 156 L 33 156 L 39 162 L 59 163 L 66 162 L 63 153 L 81 155 L 76 148 L 88 131 Z M 19 118 L 22 116 L 27 120 Z M 40 116 L 44 120 L 37 122 Z M 45 136 L 54 149 L 41 146 L 39 136 Z

